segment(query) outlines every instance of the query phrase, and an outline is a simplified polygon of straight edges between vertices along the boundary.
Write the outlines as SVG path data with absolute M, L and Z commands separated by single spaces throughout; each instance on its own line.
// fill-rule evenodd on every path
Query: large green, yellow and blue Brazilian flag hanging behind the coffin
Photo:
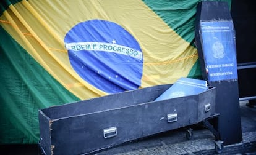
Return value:
M 0 143 L 38 143 L 38 109 L 200 78 L 198 2 L 2 0 Z

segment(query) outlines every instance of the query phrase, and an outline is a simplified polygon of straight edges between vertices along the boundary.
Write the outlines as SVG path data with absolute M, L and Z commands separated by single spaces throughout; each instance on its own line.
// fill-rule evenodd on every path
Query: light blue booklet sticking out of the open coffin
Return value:
M 197 95 L 205 92 L 207 89 L 207 81 L 192 78 L 180 78 L 169 89 L 156 98 L 155 101 Z

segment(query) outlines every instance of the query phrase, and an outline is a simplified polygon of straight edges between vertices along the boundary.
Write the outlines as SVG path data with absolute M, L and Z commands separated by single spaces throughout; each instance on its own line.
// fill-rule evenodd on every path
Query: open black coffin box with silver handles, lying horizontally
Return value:
M 45 154 L 87 154 L 197 124 L 215 114 L 216 90 L 154 101 L 171 84 L 53 106 L 39 111 Z

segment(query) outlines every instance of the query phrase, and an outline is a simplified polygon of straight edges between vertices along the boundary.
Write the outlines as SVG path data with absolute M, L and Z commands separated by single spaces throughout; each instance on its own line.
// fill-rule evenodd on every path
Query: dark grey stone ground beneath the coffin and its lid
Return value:
M 241 143 L 224 146 L 220 154 L 256 154 L 256 109 L 246 106 L 247 101 L 240 102 L 242 137 Z M 41 154 L 38 145 L 4 145 L 0 154 Z M 132 155 L 132 154 L 217 154 L 215 137 L 210 130 L 199 125 L 194 126 L 193 137 L 186 138 L 186 129 L 176 129 L 151 137 L 135 140 L 114 148 L 96 153 Z

